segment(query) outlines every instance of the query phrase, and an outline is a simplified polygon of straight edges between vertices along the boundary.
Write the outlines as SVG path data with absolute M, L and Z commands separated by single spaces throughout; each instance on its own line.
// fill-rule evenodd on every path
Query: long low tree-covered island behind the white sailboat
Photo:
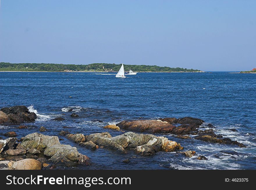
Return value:
M 0 71 L 26 72 L 117 72 L 122 64 L 92 63 L 88 65 L 54 63 L 0 63 Z M 197 69 L 160 67 L 157 65 L 124 65 L 125 71 L 137 72 L 203 72 Z

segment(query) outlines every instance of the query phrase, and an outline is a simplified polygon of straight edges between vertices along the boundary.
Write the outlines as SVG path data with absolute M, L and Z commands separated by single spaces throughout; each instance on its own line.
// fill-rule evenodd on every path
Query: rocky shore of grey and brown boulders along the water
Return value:
M 71 117 L 79 116 L 72 113 Z M 26 106 L 0 109 L 0 124 L 3 125 L 34 122 L 36 118 L 36 114 L 29 112 Z M 58 117 L 53 120 L 61 122 L 65 119 Z M 213 129 L 199 130 L 203 123 L 203 120 L 192 117 L 124 120 L 116 125 L 103 127 L 103 130 L 116 130 L 123 133 L 117 136 L 111 136 L 109 132 L 70 134 L 68 131 L 56 131 L 56 135 L 61 135 L 85 149 L 111 149 L 120 154 L 134 151 L 140 156 L 153 156 L 157 152 L 176 152 L 189 158 L 197 156 L 198 160 L 207 160 L 207 158 L 197 155 L 193 150 L 183 151 L 184 147 L 179 142 L 169 140 L 159 134 L 173 134 L 177 140 L 193 138 L 209 143 L 246 147 L 230 138 L 223 138 L 221 134 L 215 134 Z M 214 128 L 211 124 L 208 124 L 207 127 Z M 24 124 L 17 127 L 17 129 L 27 128 L 27 125 Z M 40 127 L 40 131 L 47 132 L 47 126 L 46 128 Z M 0 169 L 54 169 L 91 164 L 88 156 L 79 153 L 76 147 L 61 144 L 60 140 L 63 139 L 59 139 L 58 136 L 48 136 L 36 132 L 27 134 L 18 140 L 15 131 L 9 131 L 4 136 L 8 138 L 0 139 Z M 127 164 L 129 159 L 123 160 L 123 162 Z

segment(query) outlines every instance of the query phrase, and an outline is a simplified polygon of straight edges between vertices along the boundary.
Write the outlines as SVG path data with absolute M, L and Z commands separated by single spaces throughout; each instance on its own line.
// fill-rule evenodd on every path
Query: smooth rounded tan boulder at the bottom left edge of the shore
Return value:
M 15 170 L 40 170 L 42 169 L 42 163 L 38 160 L 27 158 L 14 162 L 13 168 L 15 168 Z

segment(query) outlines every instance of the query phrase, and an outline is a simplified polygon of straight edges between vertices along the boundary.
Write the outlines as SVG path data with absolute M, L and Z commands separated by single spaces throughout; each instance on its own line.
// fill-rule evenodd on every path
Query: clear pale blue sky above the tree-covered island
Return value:
M 0 61 L 256 67 L 256 1 L 1 0 Z

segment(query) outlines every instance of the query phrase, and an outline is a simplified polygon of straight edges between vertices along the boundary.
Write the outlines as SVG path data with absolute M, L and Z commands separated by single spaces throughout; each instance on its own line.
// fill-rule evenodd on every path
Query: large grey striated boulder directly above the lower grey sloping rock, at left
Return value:
M 21 143 L 26 149 L 35 148 L 39 151 L 57 144 L 60 144 L 57 136 L 48 136 L 39 133 L 32 133 L 25 136 Z

